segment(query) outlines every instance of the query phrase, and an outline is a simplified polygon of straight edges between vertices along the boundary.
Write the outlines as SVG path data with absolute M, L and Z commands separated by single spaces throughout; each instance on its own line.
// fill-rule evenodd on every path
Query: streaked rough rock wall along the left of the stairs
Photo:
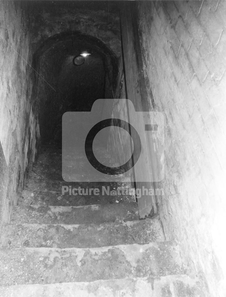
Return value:
M 1 214 L 10 218 L 34 159 L 39 127 L 31 105 L 31 40 L 29 22 L 17 1 L 0 2 L 0 142 Z

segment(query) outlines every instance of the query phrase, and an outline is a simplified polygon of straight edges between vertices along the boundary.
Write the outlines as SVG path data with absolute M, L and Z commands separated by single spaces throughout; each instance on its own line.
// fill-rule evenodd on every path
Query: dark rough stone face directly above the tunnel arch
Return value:
M 25 1 L 30 14 L 32 47 L 63 32 L 78 31 L 102 40 L 121 54 L 118 1 Z

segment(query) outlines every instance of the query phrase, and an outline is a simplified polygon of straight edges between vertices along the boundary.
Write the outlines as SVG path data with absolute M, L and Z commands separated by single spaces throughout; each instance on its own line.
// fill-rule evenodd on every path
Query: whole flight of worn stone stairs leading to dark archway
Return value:
M 53 151 L 40 156 L 3 227 L 0 296 L 207 296 L 199 277 L 184 274 L 159 217 L 139 220 L 133 198 L 62 196 Z

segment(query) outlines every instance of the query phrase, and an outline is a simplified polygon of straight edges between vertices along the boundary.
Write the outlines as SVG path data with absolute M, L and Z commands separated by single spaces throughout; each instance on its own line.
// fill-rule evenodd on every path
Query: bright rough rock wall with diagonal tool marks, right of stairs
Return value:
M 226 2 L 141 1 L 146 88 L 165 114 L 167 239 L 184 268 L 204 271 L 211 296 L 225 296 Z

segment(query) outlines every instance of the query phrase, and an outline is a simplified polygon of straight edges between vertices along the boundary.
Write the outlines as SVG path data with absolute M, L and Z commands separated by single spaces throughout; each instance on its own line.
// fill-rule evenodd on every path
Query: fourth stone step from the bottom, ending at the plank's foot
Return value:
M 136 202 L 86 206 L 15 206 L 11 223 L 89 224 L 138 220 Z

